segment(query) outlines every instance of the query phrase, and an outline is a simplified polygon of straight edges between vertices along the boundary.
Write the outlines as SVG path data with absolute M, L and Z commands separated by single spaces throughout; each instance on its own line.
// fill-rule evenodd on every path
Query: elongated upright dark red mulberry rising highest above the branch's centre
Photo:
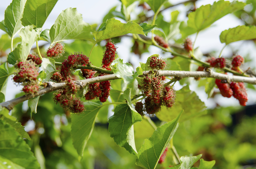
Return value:
M 112 43 L 111 41 L 109 41 L 105 45 L 105 47 L 106 47 L 106 50 L 103 55 L 102 65 L 105 67 L 108 67 L 115 60 L 117 48 L 115 47 L 114 43 Z

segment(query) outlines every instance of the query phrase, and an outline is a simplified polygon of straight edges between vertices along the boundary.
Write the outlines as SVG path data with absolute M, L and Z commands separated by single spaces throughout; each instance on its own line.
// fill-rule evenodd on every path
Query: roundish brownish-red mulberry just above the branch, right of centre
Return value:
M 152 55 L 148 60 L 148 65 L 153 70 L 163 70 L 166 67 L 166 62 L 159 55 Z

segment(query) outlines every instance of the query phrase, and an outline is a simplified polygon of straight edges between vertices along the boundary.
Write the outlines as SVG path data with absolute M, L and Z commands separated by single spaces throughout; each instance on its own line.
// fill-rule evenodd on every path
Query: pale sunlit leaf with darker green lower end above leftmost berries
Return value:
M 33 25 L 26 26 L 21 29 L 19 35 L 21 44 L 19 44 L 13 52 L 8 55 L 8 63 L 15 65 L 17 61 L 25 61 L 29 55 L 32 45 L 39 40 L 39 35 L 42 28 L 34 29 Z

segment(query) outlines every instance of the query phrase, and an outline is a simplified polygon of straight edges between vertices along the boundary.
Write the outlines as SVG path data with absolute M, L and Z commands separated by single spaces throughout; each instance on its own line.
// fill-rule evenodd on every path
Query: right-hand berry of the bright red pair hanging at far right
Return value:
M 245 84 L 243 82 L 231 82 L 230 87 L 233 90 L 234 98 L 239 101 L 240 105 L 245 106 L 248 100 Z

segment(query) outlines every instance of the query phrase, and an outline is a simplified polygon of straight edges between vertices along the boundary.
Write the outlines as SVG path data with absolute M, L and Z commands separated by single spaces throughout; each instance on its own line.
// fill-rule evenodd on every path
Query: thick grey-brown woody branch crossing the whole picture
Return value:
M 151 73 L 151 71 L 144 71 L 143 75 Z M 157 71 L 158 76 L 173 76 L 178 79 L 186 78 L 186 77 L 204 77 L 204 78 L 215 78 L 221 80 L 227 80 L 227 82 L 245 82 L 256 85 L 256 78 L 255 77 L 244 77 L 244 76 L 235 76 L 235 75 L 226 75 L 223 73 L 216 73 L 211 71 L 210 69 L 205 69 L 205 71 L 171 71 L 171 70 L 161 70 Z M 84 79 L 75 81 L 77 88 L 81 89 L 88 84 L 93 84 L 96 82 L 103 82 L 107 80 L 115 80 L 120 79 L 115 74 L 99 76 L 91 79 Z M 32 99 L 34 97 L 43 95 L 45 93 L 49 93 L 54 90 L 62 89 L 66 86 L 66 83 L 54 83 L 54 82 L 47 82 L 47 87 L 39 90 L 35 95 L 24 95 L 19 98 L 0 103 L 2 107 L 6 107 L 8 110 L 13 109 L 13 107 L 21 102 L 26 100 Z

